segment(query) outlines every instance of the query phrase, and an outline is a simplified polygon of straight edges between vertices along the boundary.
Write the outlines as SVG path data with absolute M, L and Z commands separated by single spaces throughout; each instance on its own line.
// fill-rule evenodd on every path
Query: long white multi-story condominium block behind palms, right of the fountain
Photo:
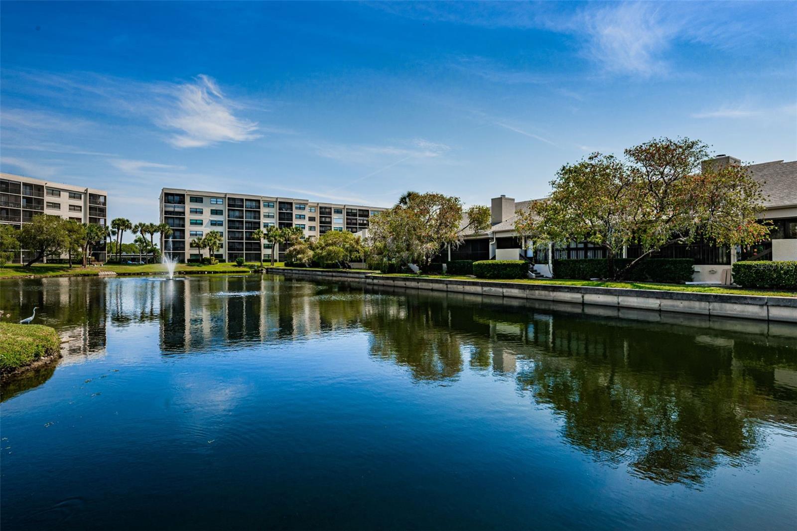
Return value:
M 169 238 L 161 237 L 164 254 L 179 261 L 198 260 L 199 250 L 191 247 L 194 238 L 202 238 L 211 230 L 222 234 L 222 249 L 216 258 L 232 262 L 285 259 L 285 249 L 252 238 L 257 229 L 297 226 L 304 238 L 314 238 L 328 230 L 358 232 L 367 229 L 372 215 L 382 207 L 316 203 L 307 199 L 267 195 L 226 194 L 222 192 L 163 188 L 160 194 L 161 222 L 171 226 Z

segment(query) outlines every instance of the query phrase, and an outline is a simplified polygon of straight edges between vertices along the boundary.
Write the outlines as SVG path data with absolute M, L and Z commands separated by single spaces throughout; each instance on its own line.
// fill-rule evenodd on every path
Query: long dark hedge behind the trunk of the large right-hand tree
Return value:
M 627 267 L 633 260 L 614 258 L 614 269 Z M 692 280 L 694 272 L 692 258 L 644 258 L 626 275 L 630 281 L 651 281 L 665 284 L 681 284 Z M 583 260 L 554 260 L 554 278 L 589 280 L 608 278 L 609 261 L 606 258 L 584 258 Z

